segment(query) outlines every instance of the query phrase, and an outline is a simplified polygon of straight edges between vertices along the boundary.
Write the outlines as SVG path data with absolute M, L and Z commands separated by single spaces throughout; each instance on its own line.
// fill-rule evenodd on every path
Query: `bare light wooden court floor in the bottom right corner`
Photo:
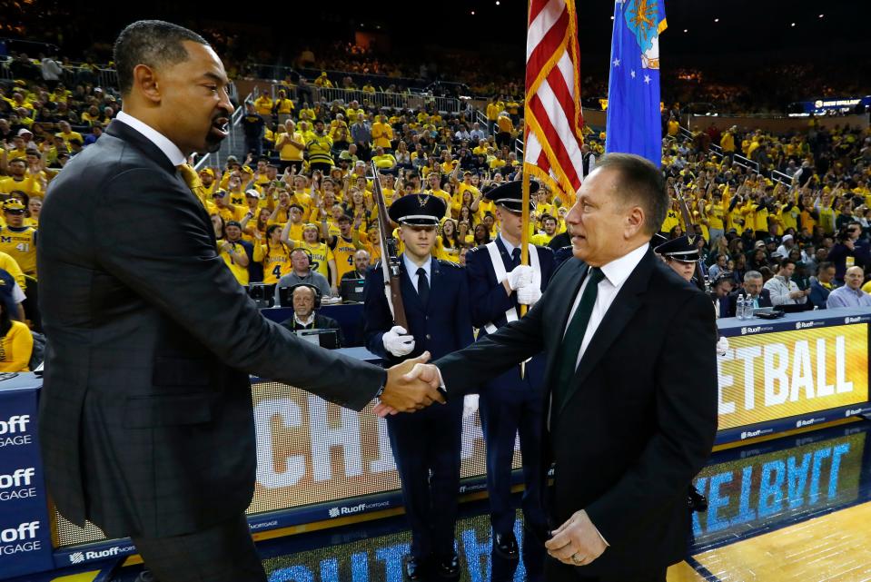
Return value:
M 864 503 L 694 557 L 722 582 L 860 582 L 871 579 L 869 523 Z

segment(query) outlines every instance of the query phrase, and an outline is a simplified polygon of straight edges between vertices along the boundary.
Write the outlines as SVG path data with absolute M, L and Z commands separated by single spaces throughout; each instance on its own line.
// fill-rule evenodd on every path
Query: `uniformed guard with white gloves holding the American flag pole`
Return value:
M 471 249 L 466 255 L 471 321 L 479 328 L 478 340 L 509 321 L 516 321 L 520 317 L 520 304 L 531 306 L 538 301 L 554 270 L 553 252 L 548 247 L 533 244 L 529 245 L 530 264 L 520 265 L 521 187 L 522 182 L 517 180 L 486 193 L 487 200 L 496 205 L 500 234 L 495 241 Z M 531 194 L 538 189 L 538 182 L 530 182 Z M 533 201 L 534 198 L 530 200 L 528 212 L 535 210 Z M 545 528 L 538 490 L 543 372 L 544 359 L 536 357 L 481 386 L 480 419 L 487 444 L 487 492 L 493 528 L 493 582 L 513 579 L 515 560 L 520 557 L 514 535 L 516 510 L 511 502 L 511 469 L 518 435 L 526 486 L 521 502 L 524 523 L 532 531 Z M 543 540 L 526 541 L 524 565 L 529 581 L 535 582 L 539 579 L 544 556 Z

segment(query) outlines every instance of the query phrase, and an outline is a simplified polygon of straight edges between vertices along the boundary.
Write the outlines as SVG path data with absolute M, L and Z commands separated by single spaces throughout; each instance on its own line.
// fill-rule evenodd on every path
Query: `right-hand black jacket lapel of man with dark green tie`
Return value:
M 629 279 L 623 283 L 623 287 L 620 289 L 617 297 L 611 302 L 605 317 L 599 323 L 599 327 L 596 328 L 596 333 L 593 335 L 592 340 L 590 340 L 587 350 L 584 351 L 578 370 L 575 371 L 575 376 L 571 380 L 569 393 L 557 411 L 558 414 L 579 390 L 584 380 L 587 380 L 589 373 L 608 352 L 611 345 L 629 324 L 632 316 L 638 311 L 638 307 L 641 305 L 638 295 L 648 288 L 648 280 L 655 264 L 654 261 L 657 261 L 657 259 L 653 256 L 653 252 L 646 252 L 638 266 L 629 275 Z M 586 269 L 584 271 L 586 272 Z M 571 309 L 570 304 L 569 309 Z M 563 325 L 562 329 L 565 329 L 565 325 Z

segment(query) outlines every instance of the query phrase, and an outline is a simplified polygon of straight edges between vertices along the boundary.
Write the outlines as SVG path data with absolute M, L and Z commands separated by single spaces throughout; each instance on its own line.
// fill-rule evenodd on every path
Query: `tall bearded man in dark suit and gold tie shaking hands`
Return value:
M 114 61 L 124 111 L 54 179 L 40 217 L 48 490 L 74 524 L 131 536 L 161 582 L 260 582 L 244 514 L 257 462 L 249 374 L 352 409 L 441 397 L 265 320 L 217 254 L 176 169 L 217 150 L 233 113 L 203 38 L 137 22 Z

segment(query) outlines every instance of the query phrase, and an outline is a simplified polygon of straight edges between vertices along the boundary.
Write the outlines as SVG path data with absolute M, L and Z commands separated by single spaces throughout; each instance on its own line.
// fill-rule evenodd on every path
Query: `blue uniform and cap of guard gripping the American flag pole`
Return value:
M 532 182 L 535 184 L 535 182 Z M 533 186 L 531 190 L 536 190 Z M 509 182 L 486 194 L 500 206 L 520 212 L 520 182 Z M 534 204 L 534 202 L 533 202 Z M 490 249 L 492 246 L 492 249 Z M 534 247 L 535 258 L 532 248 Z M 520 265 L 520 248 L 509 252 L 501 235 L 489 245 L 472 249 L 466 255 L 466 275 L 469 281 L 471 321 L 480 328 L 478 339 L 520 317 L 517 292 L 509 295 L 497 278 L 493 256 L 498 254 L 501 272 L 508 273 Z M 543 292 L 554 271 L 553 252 L 548 247 L 530 245 L 530 265 L 538 271 L 536 277 Z M 503 275 L 504 277 L 504 275 Z M 513 313 L 514 315 L 511 315 Z M 487 443 L 487 488 L 490 494 L 490 522 L 494 533 L 496 556 L 514 557 L 499 552 L 505 538 L 513 542 L 515 511 L 511 506 L 511 465 L 514 457 L 515 437 L 520 432 L 520 452 L 523 459 L 523 517 L 528 530 L 541 532 L 547 528 L 541 507 L 539 474 L 541 472 L 541 419 L 543 416 L 541 390 L 544 381 L 544 358 L 537 356 L 527 362 L 523 377 L 520 366 L 512 368 L 492 380 L 480 392 L 480 419 Z M 536 549 L 524 544 L 523 557 L 530 580 L 536 579 L 540 565 Z M 501 544 L 505 547 L 505 544 Z M 538 548 L 540 549 L 540 548 Z M 499 578 L 497 561 L 493 562 L 493 580 Z

